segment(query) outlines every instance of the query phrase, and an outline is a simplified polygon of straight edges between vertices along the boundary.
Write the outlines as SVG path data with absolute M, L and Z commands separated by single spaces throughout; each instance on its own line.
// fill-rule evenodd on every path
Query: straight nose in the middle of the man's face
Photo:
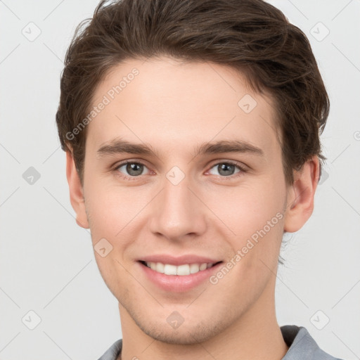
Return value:
M 150 231 L 172 241 L 201 236 L 207 226 L 203 191 L 185 176 L 179 184 L 165 179 L 152 202 Z

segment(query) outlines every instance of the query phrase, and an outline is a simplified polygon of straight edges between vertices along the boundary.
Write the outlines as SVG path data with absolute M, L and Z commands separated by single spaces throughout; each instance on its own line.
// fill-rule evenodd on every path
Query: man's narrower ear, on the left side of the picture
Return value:
M 82 184 L 75 167 L 74 158 L 70 151 L 66 152 L 66 177 L 70 190 L 70 203 L 76 212 L 77 225 L 89 229 L 89 221 L 86 216 L 85 200 Z

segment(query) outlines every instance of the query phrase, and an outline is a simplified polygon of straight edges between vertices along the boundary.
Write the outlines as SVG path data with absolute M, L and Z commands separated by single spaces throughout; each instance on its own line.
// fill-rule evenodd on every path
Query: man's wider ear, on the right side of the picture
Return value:
M 294 233 L 304 226 L 314 210 L 314 195 L 319 182 L 319 158 L 314 156 L 294 172 L 294 183 L 288 188 L 284 231 Z

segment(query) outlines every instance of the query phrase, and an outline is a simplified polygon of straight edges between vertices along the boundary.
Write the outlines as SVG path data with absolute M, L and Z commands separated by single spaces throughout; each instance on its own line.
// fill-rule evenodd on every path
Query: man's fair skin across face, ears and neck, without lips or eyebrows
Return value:
M 275 314 L 278 254 L 283 232 L 299 230 L 311 215 L 318 158 L 286 186 L 271 98 L 223 65 L 128 60 L 99 84 L 94 105 L 133 68 L 139 75 L 88 125 L 84 186 L 70 153 L 67 158 L 77 223 L 91 229 L 93 245 L 105 238 L 113 246 L 95 257 L 120 303 L 122 359 L 281 359 L 288 347 Z M 250 113 L 238 105 L 245 94 L 257 101 Z M 119 139 L 145 143 L 157 156 L 98 153 Z M 263 155 L 194 157 L 203 143 L 221 140 L 245 141 Z M 124 160 L 145 166 L 116 169 Z M 227 162 L 246 172 L 221 171 Z M 174 166 L 185 176 L 176 185 L 166 176 Z M 282 219 L 216 285 L 165 291 L 137 261 L 195 254 L 225 265 L 276 214 Z M 167 323 L 173 311 L 184 318 L 176 329 Z

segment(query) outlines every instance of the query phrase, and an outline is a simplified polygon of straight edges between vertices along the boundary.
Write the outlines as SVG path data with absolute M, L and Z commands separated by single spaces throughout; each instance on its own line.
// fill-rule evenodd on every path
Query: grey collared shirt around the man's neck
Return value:
M 281 326 L 288 352 L 281 360 L 341 360 L 320 349 L 306 328 L 296 325 Z M 111 345 L 98 360 L 116 360 L 122 349 L 122 339 Z

